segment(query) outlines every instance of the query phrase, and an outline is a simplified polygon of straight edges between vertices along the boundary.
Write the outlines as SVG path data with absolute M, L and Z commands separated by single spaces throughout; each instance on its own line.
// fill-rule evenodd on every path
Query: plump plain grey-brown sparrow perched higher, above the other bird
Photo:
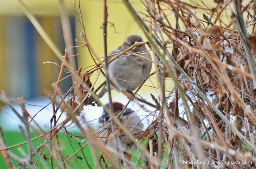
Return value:
M 113 50 L 109 55 L 123 52 L 130 48 L 135 42 L 142 42 L 138 35 L 130 35 L 124 43 Z M 124 91 L 132 92 L 142 84 L 149 76 L 152 67 L 152 58 L 145 45 L 132 48 L 130 52 L 138 55 L 121 55 L 108 65 L 110 77 L 116 80 L 116 83 Z M 143 52 L 146 51 L 146 52 Z M 141 56 L 139 56 L 141 55 Z M 111 56 L 110 59 L 116 55 Z M 111 89 L 114 87 L 112 86 Z M 104 87 L 98 95 L 100 98 L 107 92 Z

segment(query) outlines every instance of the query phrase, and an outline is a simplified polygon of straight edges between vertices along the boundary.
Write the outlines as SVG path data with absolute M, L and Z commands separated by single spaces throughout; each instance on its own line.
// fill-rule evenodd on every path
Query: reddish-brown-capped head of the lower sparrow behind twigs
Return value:
M 105 105 L 105 107 L 107 107 L 109 109 L 109 104 L 107 103 Z M 124 105 L 122 103 L 119 103 L 119 102 L 113 102 L 112 107 L 113 107 L 114 114 L 117 115 L 123 110 Z M 127 116 L 127 115 L 130 115 L 131 113 L 133 113 L 132 109 L 126 108 L 121 116 Z M 110 120 L 110 118 L 109 118 L 108 113 L 104 109 L 102 109 L 102 115 L 99 119 L 100 123 L 107 122 L 109 120 Z

